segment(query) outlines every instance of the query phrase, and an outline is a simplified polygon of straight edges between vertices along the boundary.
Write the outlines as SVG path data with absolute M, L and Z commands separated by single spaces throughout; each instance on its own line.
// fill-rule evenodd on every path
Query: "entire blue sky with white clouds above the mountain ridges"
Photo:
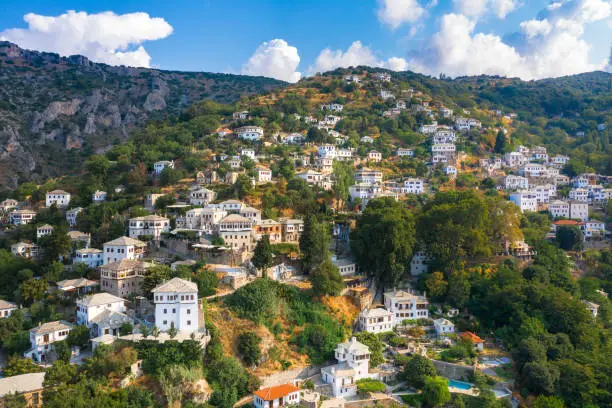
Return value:
M 531 80 L 612 72 L 612 0 L 2 0 L 0 40 L 289 82 L 357 65 Z

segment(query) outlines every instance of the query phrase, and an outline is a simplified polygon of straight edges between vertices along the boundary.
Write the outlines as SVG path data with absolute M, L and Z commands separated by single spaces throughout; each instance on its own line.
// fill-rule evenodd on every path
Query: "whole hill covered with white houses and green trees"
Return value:
M 589 167 L 484 105 L 337 70 L 22 183 L 0 400 L 608 406 L 609 111 L 566 137 L 601 147 Z

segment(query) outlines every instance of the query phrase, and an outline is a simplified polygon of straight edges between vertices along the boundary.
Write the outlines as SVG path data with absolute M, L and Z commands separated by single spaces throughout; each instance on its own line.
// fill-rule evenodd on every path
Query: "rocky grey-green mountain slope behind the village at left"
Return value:
M 0 42 L 0 187 L 70 171 L 84 155 L 192 102 L 233 103 L 285 85 L 264 77 L 110 66 Z

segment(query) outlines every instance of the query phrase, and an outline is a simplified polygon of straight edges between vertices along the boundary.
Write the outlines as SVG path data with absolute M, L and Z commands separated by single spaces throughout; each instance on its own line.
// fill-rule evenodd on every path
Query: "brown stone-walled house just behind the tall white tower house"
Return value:
M 147 269 L 153 264 L 134 259 L 122 259 L 100 267 L 100 287 L 117 297 L 142 295 L 142 283 Z

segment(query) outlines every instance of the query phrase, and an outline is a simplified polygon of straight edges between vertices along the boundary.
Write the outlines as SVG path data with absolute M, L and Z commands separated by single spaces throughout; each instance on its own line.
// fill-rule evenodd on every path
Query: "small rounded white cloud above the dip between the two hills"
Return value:
M 246 75 L 261 75 L 287 82 L 297 82 L 302 76 L 297 72 L 300 56 L 296 47 L 287 41 L 274 39 L 261 44 L 242 67 Z

